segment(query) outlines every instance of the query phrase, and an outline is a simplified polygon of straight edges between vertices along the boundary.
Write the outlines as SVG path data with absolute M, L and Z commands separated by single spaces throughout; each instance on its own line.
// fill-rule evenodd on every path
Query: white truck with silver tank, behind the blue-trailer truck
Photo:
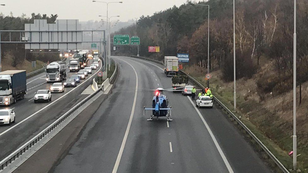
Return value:
M 55 82 L 66 79 L 66 64 L 62 61 L 54 61 L 46 67 L 46 81 Z

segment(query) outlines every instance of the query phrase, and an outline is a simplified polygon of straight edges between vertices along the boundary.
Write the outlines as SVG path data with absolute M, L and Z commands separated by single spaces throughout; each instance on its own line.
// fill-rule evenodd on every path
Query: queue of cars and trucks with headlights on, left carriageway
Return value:
M 87 51 L 84 51 L 84 52 L 87 52 Z M 84 56 L 85 55 L 83 55 L 82 57 Z M 69 56 L 66 58 L 69 58 Z M 77 87 L 77 83 L 80 83 L 81 80 L 85 80 L 88 74 L 92 74 L 92 70 L 96 70 L 99 67 L 99 61 L 100 61 L 100 58 L 95 57 L 93 60 L 93 63 L 88 64 L 90 63 L 90 61 L 88 61 L 87 59 L 86 61 L 82 62 L 83 68 L 78 68 L 78 67 L 81 67 L 78 64 L 77 65 L 78 69 L 75 69 L 75 70 L 71 70 L 72 67 L 75 68 L 75 66 L 70 67 L 70 65 L 75 65 L 73 64 L 74 62 L 69 63 L 68 69 L 70 69 L 70 72 L 72 72 L 73 74 L 67 79 L 66 79 L 67 72 L 66 72 L 65 63 L 63 63 L 62 61 L 55 61 L 55 62 L 48 64 L 45 70 L 46 82 L 47 83 L 54 82 L 54 83 L 50 86 L 49 89 L 37 90 L 37 92 L 34 93 L 34 96 L 32 98 L 34 100 L 34 103 L 39 103 L 39 102 L 49 103 L 52 101 L 52 93 L 56 93 L 56 92 L 63 93 L 65 92 L 65 88 L 67 87 Z M 15 103 L 16 100 L 22 100 L 24 98 L 24 95 L 26 94 L 26 70 L 3 71 L 0 73 L 0 77 L 2 77 L 3 79 L 6 77 L 8 81 L 7 86 L 4 86 L 4 83 L 6 84 L 6 82 L 2 82 L 3 86 L 0 87 L 0 102 L 1 102 L 0 104 L 3 103 L 3 105 L 9 106 L 12 103 Z M 18 78 L 19 80 L 16 80 L 15 78 Z M 20 80 L 20 79 L 23 79 L 23 80 Z M 14 86 L 15 87 L 22 86 L 22 87 L 18 87 L 19 90 L 16 90 Z M 11 97 L 8 97 L 8 96 L 2 97 L 1 90 L 12 91 L 13 94 L 10 95 Z M 0 124 L 10 125 L 11 123 L 14 123 L 16 121 L 15 112 L 13 109 L 14 108 L 0 109 Z

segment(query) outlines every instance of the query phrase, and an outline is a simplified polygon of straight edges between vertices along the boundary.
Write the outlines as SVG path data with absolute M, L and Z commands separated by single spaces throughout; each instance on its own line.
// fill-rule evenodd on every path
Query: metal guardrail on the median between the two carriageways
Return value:
M 103 68 L 101 66 L 100 70 Z M 114 73 L 116 70 L 114 71 Z M 97 74 L 96 74 L 97 75 Z M 94 77 L 96 77 L 96 75 Z M 84 98 L 80 103 L 75 105 L 60 118 L 54 121 L 51 125 L 45 128 L 43 131 L 38 133 L 35 137 L 30 139 L 28 142 L 23 144 L 20 148 L 15 150 L 5 159 L 0 162 L 0 172 L 12 172 L 19 165 L 21 165 L 26 159 L 28 159 L 32 154 L 34 154 L 39 148 L 41 148 L 45 143 L 47 143 L 52 137 L 54 137 L 61 129 L 63 129 L 71 120 L 73 120 L 80 112 L 83 111 L 94 97 L 99 97 L 98 93 L 102 91 L 100 87 L 97 91 L 90 94 L 88 97 Z M 95 98 L 96 99 L 96 98 Z M 92 103 L 91 102 L 91 103 Z M 18 160 L 18 161 L 17 161 Z

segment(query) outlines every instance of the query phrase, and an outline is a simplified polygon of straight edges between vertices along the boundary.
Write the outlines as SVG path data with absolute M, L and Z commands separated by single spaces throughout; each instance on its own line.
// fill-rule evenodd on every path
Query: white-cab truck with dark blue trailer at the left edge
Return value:
M 25 98 L 27 91 L 26 70 L 0 72 L 0 104 L 10 105 Z

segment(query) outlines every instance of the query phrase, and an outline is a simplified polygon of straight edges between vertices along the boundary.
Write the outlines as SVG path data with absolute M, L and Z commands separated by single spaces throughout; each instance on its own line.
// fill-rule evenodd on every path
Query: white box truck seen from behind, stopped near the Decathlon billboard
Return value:
M 176 76 L 179 72 L 179 59 L 174 56 L 165 56 L 164 72 L 167 76 Z

